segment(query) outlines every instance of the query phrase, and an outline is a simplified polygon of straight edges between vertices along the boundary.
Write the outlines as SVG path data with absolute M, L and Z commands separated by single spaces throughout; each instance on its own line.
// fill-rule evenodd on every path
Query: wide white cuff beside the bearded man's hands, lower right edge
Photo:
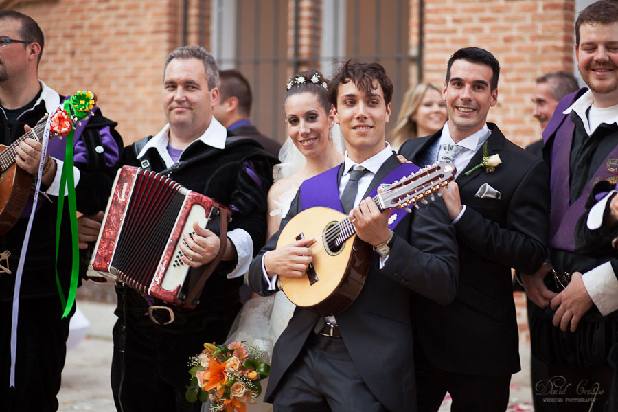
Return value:
M 582 279 L 588 295 L 603 316 L 618 309 L 618 279 L 611 262 L 605 262 L 584 273 Z

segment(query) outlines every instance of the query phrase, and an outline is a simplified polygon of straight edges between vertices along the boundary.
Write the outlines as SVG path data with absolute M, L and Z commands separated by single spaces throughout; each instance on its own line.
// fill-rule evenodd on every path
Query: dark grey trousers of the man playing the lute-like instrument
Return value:
M 385 412 L 341 338 L 310 334 L 275 393 L 275 412 Z M 250 410 L 250 409 L 249 409 Z

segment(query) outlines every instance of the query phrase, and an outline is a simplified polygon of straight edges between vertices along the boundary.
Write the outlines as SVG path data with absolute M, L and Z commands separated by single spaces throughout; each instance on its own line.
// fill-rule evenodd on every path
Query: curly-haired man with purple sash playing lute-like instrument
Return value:
M 399 170 L 417 170 L 411 163 L 400 165 L 385 141 L 392 93 L 378 63 L 345 62 L 328 86 L 345 139 L 345 162 L 301 185 L 281 227 L 309 207 L 328 206 L 345 211 L 374 252 L 369 248 L 363 289 L 343 312 L 295 310 L 273 350 L 265 399 L 275 411 L 417 410 L 409 308 L 415 293 L 441 304 L 454 299 L 457 241 L 440 198 L 426 209 L 392 215 L 367 198 L 380 183 L 400 179 Z M 312 238 L 275 249 L 280 234 L 249 268 L 249 286 L 261 295 L 275 293 L 278 277 L 307 276 L 314 258 L 328 259 L 323 249 L 320 255 L 313 251 L 323 243 Z

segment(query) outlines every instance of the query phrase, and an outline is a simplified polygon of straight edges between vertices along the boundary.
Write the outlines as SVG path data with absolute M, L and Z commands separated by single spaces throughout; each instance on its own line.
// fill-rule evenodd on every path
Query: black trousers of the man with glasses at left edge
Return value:
M 71 316 L 75 312 L 73 311 Z M 21 299 L 15 387 L 9 387 L 12 302 L 0 302 L 0 402 L 6 412 L 58 410 L 70 317 L 62 319 L 60 299 Z

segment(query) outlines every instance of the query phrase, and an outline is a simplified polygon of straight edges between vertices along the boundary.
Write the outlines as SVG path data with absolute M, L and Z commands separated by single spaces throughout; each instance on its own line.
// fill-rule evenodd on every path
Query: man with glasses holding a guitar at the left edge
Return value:
M 45 113 L 55 111 L 63 97 L 38 80 L 38 62 L 43 52 L 43 32 L 36 21 L 12 10 L 0 11 L 0 143 L 9 145 L 34 126 Z M 76 133 L 73 176 L 78 211 L 95 213 L 106 205 L 119 159 L 122 139 L 115 122 L 94 109 L 83 130 Z M 82 124 L 84 121 L 82 120 Z M 31 206 L 18 222 L 0 236 L 0 399 L 10 412 L 56 411 L 56 394 L 65 363 L 69 317 L 62 319 L 55 268 L 62 293 L 67 295 L 71 276 L 69 225 L 63 225 L 56 260 L 56 205 L 64 159 L 65 141 L 53 139 L 47 146 L 42 196 L 30 231 L 25 256 L 16 341 L 15 385 L 10 387 L 10 335 L 13 295 L 21 248 L 27 236 Z M 41 144 L 25 139 L 16 148 L 16 165 L 36 176 Z M 3 174 L 1 179 L 5 179 Z M 4 197 L 5 195 L 3 195 Z M 3 203 L 4 200 L 0 200 Z M 4 207 L 4 205 L 2 205 Z M 67 214 L 65 214 L 66 222 Z M 72 312 L 71 312 L 72 314 Z M 33 395 L 34 394 L 34 395 Z

